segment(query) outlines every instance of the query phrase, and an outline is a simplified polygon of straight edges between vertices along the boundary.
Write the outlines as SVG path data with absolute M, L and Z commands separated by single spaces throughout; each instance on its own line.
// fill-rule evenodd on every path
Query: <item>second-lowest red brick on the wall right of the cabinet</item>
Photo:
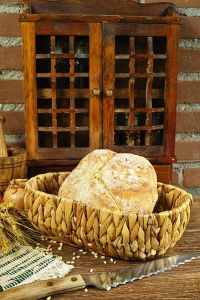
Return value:
M 200 161 L 200 140 L 176 140 L 177 162 Z

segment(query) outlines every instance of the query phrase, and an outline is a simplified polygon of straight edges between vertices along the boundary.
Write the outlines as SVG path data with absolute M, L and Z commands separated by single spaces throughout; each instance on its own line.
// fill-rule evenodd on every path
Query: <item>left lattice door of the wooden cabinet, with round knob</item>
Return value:
M 22 28 L 28 159 L 82 158 L 101 147 L 102 26 Z

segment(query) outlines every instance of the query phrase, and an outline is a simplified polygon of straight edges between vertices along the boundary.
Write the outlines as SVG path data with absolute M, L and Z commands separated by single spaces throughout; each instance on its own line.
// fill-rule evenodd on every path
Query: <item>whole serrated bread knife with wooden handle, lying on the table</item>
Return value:
M 200 253 L 180 254 L 154 259 L 110 272 L 102 272 L 88 276 L 72 274 L 62 278 L 37 281 L 1 291 L 0 298 L 3 300 L 37 300 L 42 297 L 81 289 L 86 285 L 95 285 L 100 289 L 106 289 L 108 286 L 115 287 L 118 284 L 125 284 L 136 279 L 149 277 L 150 275 L 170 270 L 174 266 L 184 264 L 199 257 Z

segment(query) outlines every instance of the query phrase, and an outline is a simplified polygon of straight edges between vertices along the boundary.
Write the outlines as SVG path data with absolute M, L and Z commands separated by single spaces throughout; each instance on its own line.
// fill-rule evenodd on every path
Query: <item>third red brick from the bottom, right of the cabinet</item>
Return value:
M 177 111 L 176 132 L 199 132 L 200 111 L 184 110 Z

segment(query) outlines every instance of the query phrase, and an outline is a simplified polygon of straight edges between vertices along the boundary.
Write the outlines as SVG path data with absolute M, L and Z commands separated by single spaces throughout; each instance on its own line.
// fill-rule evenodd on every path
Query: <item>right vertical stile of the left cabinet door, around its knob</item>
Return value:
M 100 94 L 94 96 L 93 88 Z M 89 24 L 89 150 L 102 147 L 102 25 Z

